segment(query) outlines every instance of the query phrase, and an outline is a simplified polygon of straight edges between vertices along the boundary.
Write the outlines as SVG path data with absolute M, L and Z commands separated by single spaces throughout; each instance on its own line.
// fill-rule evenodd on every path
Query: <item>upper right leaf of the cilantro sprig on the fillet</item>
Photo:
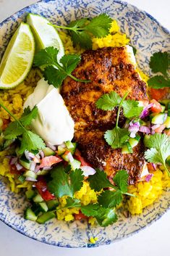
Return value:
M 143 107 L 138 107 L 139 102 L 131 99 L 127 99 L 122 102 L 122 107 L 124 110 L 124 116 L 127 118 L 130 117 L 138 117 L 140 113 L 143 111 Z

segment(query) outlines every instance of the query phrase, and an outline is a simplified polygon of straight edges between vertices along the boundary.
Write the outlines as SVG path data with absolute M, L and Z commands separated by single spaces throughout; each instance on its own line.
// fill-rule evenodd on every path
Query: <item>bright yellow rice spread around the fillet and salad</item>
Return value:
M 64 49 L 66 54 L 70 53 L 81 53 L 83 50 L 80 48 L 74 48 L 70 36 L 66 33 L 60 31 L 61 40 L 64 43 Z M 111 25 L 110 34 L 105 38 L 93 38 L 93 49 L 98 49 L 104 46 L 125 46 L 129 43 L 129 38 L 123 33 L 120 32 L 119 25 L 114 20 Z M 140 73 L 141 78 L 147 82 L 148 77 L 137 70 Z M 22 115 L 22 105 L 27 99 L 27 96 L 33 92 L 33 89 L 36 86 L 37 81 L 41 78 L 41 72 L 38 69 L 33 69 L 30 71 L 30 74 L 27 76 L 26 80 L 23 81 L 20 86 L 12 90 L 0 91 L 0 101 L 4 103 L 9 110 L 20 117 Z M 3 109 L 0 109 L 1 120 L 5 123 L 6 120 L 12 120 L 11 117 Z M 2 123 L 0 122 L 0 126 Z M 1 129 L 1 127 L 0 127 Z M 0 137 L 0 143 L 3 140 Z M 10 154 L 10 152 L 4 151 L 0 152 L 0 175 L 4 176 L 8 181 L 10 189 L 18 193 L 21 189 L 30 189 L 32 186 L 31 182 L 25 181 L 21 183 L 18 181 L 9 170 L 9 160 L 4 157 L 5 155 Z M 153 178 L 147 182 L 139 182 L 135 185 L 129 186 L 129 193 L 135 194 L 137 197 L 130 197 L 127 201 L 127 208 L 132 214 L 140 214 L 143 211 L 143 208 L 153 204 L 153 202 L 158 199 L 162 194 L 163 189 L 170 186 L 170 179 L 164 171 L 156 170 L 153 173 Z M 80 191 L 75 193 L 75 198 L 80 199 L 82 205 L 88 205 L 90 203 L 97 202 L 97 194 L 93 189 L 90 189 L 89 183 L 87 181 L 83 182 L 83 186 Z M 67 197 L 62 197 L 60 199 L 61 207 L 60 210 L 56 210 L 56 215 L 59 220 L 70 221 L 74 220 L 74 214 L 79 212 L 79 208 L 64 208 L 66 205 Z M 95 218 L 89 218 L 89 223 L 94 224 Z M 91 238 L 90 241 L 95 243 L 95 239 Z

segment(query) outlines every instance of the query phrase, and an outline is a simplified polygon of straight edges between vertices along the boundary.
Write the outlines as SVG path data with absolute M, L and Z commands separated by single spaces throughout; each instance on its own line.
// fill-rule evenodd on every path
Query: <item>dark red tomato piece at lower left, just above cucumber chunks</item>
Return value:
M 53 194 L 50 193 L 50 191 L 48 191 L 46 181 L 43 178 L 41 178 L 40 181 L 37 181 L 35 183 L 35 187 L 38 190 L 38 193 L 41 194 L 41 197 L 43 197 L 45 201 L 53 200 L 56 198 Z

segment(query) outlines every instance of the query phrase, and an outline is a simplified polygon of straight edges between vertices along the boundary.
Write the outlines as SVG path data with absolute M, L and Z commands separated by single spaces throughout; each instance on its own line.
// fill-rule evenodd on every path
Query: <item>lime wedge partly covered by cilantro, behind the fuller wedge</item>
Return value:
M 31 13 L 27 15 L 27 23 L 33 31 L 37 49 L 54 46 L 54 48 L 59 49 L 59 54 L 57 55 L 57 60 L 59 61 L 64 55 L 64 46 L 56 29 L 49 25 L 51 23 L 45 17 Z

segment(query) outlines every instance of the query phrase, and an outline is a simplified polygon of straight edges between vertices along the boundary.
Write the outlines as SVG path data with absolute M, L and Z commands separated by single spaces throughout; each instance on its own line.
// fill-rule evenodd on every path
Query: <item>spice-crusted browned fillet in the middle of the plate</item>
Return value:
M 117 170 L 127 170 L 129 183 L 135 183 L 145 165 L 142 142 L 135 146 L 132 154 L 111 149 L 103 135 L 106 130 L 114 128 L 117 109 L 103 111 L 95 106 L 95 102 L 110 91 L 116 91 L 122 97 L 129 91 L 127 99 L 148 102 L 146 84 L 135 71 L 132 54 L 127 46 L 85 51 L 72 75 L 90 80 L 90 83 L 79 83 L 67 77 L 61 88 L 61 95 L 75 121 L 75 141 L 82 156 L 94 168 L 104 170 L 111 177 Z M 120 127 L 124 121 L 121 112 Z

